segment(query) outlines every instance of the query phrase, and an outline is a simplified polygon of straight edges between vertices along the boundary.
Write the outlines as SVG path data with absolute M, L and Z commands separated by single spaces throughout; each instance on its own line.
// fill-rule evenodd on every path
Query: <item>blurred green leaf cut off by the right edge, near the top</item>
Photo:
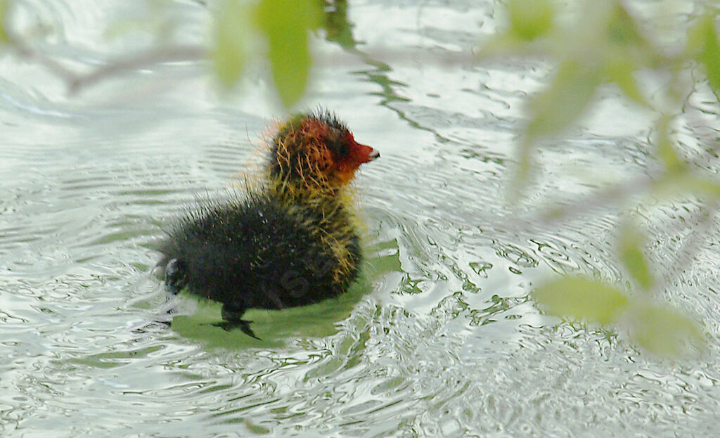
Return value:
M 698 61 L 708 76 L 708 84 L 716 98 L 720 98 L 720 43 L 715 30 L 714 14 L 703 15 L 690 29 L 688 47 L 691 53 L 697 53 Z

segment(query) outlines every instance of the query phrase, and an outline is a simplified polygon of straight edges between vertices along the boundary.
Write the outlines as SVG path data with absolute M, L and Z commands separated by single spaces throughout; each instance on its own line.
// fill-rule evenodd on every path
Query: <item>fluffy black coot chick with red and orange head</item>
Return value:
M 345 292 L 361 254 L 348 183 L 379 153 L 330 112 L 296 115 L 269 142 L 257 182 L 186 213 L 161 243 L 165 282 L 222 303 L 220 325 L 256 337 L 245 310 L 318 303 Z

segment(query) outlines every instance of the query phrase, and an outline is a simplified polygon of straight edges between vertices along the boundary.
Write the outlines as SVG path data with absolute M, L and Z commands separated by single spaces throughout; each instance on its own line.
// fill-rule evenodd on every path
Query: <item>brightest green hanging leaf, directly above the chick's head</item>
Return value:
M 321 23 L 319 1 L 261 0 L 256 21 L 269 46 L 268 58 L 279 97 L 292 107 L 310 78 L 310 30 Z

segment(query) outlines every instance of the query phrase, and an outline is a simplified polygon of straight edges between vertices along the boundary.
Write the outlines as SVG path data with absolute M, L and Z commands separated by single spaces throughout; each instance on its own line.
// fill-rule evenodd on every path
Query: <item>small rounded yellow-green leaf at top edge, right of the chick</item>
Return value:
M 549 0 L 509 0 L 510 35 L 534 40 L 552 30 L 555 10 Z

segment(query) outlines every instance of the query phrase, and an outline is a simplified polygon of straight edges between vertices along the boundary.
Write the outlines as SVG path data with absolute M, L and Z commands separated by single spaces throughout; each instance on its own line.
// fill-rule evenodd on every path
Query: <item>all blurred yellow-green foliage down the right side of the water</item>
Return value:
M 481 58 L 540 55 L 555 64 L 549 84 L 528 102 L 528 124 L 521 135 L 513 185 L 518 193 L 529 184 L 535 170 L 537 148 L 551 147 L 549 140 L 580 120 L 593 105 L 600 87 L 614 85 L 631 102 L 657 113 L 651 146 L 662 169 L 642 187 L 624 187 L 621 183 L 607 191 L 611 194 L 608 197 L 616 201 L 634 197 L 631 202 L 643 202 L 637 201 L 638 197 L 699 198 L 704 202 L 703 213 L 712 218 L 720 201 L 720 179 L 701 173 L 698 166 L 678 155 L 670 124 L 673 113 L 681 111 L 693 91 L 683 89 L 679 80 L 688 67 L 698 66 L 700 79 L 704 75 L 716 99 L 720 97 L 717 11 L 708 8 L 695 20 L 685 46 L 664 47 L 643 32 L 643 23 L 620 0 L 585 1 L 577 12 L 564 16 L 564 25 L 557 24 L 562 21 L 558 19 L 560 12 L 550 0 L 508 1 L 507 9 L 508 27 L 485 45 Z M 670 86 L 654 91 L 659 96 L 653 99 L 644 95 L 639 83 L 647 72 L 670 78 Z M 719 148 L 707 147 L 714 151 Z M 561 277 L 533 292 L 541 308 L 572 320 L 624 325 L 632 341 L 655 354 L 678 357 L 690 351 L 688 346 L 701 348 L 705 339 L 692 318 L 650 301 L 652 292 L 664 284 L 656 280 L 646 255 L 644 234 L 635 220 L 622 220 L 617 237 L 616 254 L 632 280 L 631 290 L 590 277 Z M 682 257 L 678 259 L 683 262 Z

